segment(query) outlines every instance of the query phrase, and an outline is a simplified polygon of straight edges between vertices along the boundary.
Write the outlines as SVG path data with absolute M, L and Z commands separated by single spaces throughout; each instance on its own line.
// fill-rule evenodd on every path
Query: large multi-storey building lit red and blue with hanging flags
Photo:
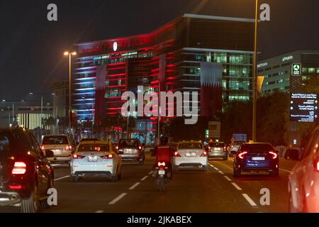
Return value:
M 198 92 L 199 114 L 213 116 L 252 96 L 253 31 L 252 19 L 184 14 L 148 34 L 79 43 L 73 108 L 99 122 L 121 113 L 123 92 L 158 92 L 160 82 L 161 91 Z M 138 118 L 145 138 L 153 120 Z

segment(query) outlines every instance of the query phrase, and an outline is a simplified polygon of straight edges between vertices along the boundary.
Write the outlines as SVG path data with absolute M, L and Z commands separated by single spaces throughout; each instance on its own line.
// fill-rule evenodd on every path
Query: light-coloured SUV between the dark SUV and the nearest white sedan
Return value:
M 69 136 L 61 135 L 44 135 L 41 143 L 41 149 L 52 150 L 54 157 L 48 158 L 52 163 L 69 163 L 73 146 Z

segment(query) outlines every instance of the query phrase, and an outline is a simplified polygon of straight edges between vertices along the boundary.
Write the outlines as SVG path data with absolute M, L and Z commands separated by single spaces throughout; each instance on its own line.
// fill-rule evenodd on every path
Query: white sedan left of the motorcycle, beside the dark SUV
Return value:
M 117 182 L 121 179 L 122 163 L 112 143 L 103 140 L 79 143 L 70 163 L 71 181 L 79 177 L 102 176 Z

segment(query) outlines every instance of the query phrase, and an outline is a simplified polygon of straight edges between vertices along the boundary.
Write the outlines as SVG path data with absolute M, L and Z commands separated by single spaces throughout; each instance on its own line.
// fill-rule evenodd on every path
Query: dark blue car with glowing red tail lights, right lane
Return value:
M 233 160 L 233 175 L 242 172 L 267 171 L 273 177 L 279 176 L 279 157 L 270 143 L 243 143 Z

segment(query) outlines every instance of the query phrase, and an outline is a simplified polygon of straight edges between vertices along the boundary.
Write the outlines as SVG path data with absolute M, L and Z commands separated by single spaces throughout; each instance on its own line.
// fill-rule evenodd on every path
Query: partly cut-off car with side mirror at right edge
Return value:
M 285 157 L 295 160 L 288 177 L 289 211 L 319 212 L 319 127 L 311 133 L 310 139 L 299 155 L 298 149 L 286 150 Z

